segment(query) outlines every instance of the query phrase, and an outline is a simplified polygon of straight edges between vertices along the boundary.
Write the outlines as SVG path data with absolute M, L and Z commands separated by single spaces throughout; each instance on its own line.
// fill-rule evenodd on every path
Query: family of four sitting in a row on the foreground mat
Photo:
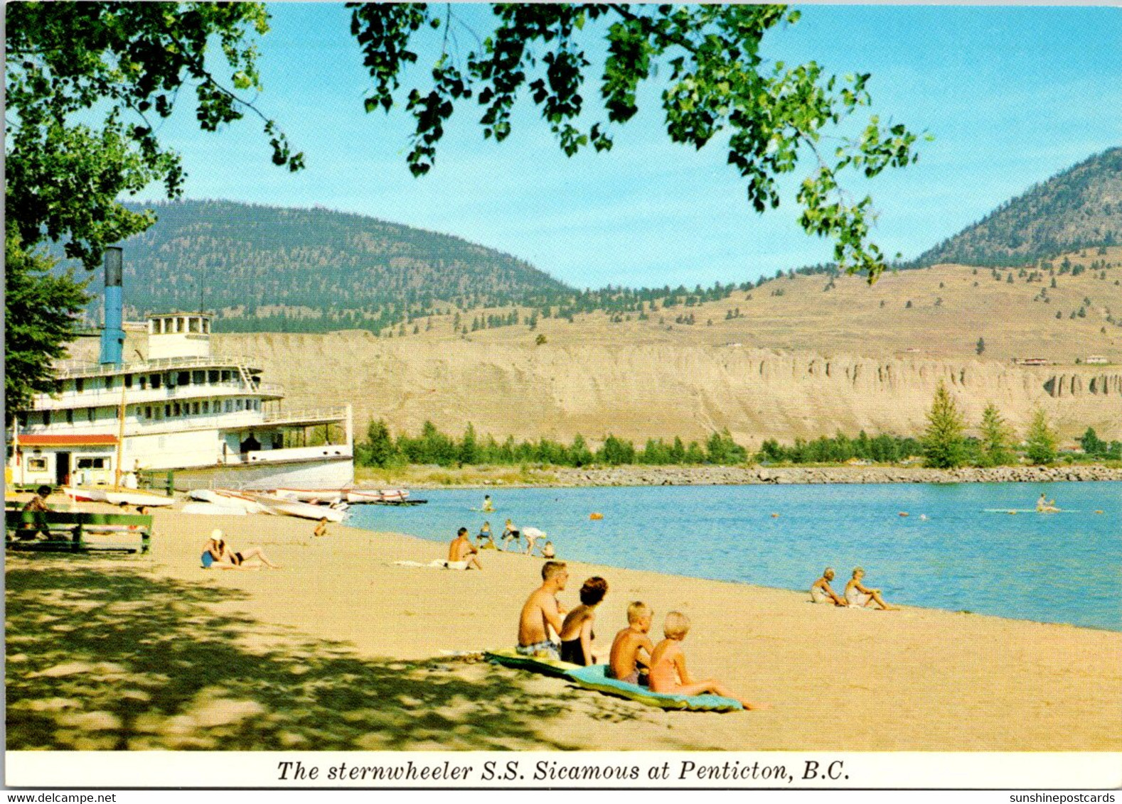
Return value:
M 517 653 L 522 656 L 558 659 L 577 665 L 591 665 L 604 658 L 595 650 L 592 630 L 596 608 L 608 593 L 608 582 L 599 576 L 585 581 L 580 588 L 580 606 L 567 611 L 558 601 L 564 591 L 569 571 L 564 562 L 546 561 L 542 565 L 542 585 L 534 590 L 518 617 Z M 739 701 L 745 709 L 761 709 L 729 691 L 716 678 L 695 680 L 686 668 L 682 641 L 690 630 L 689 618 L 671 611 L 663 623 L 663 636 L 652 644 L 647 632 L 654 612 L 641 601 L 627 606 L 627 627 L 616 634 L 608 651 L 608 674 L 628 684 L 646 686 L 651 692 L 672 695 L 714 693 Z

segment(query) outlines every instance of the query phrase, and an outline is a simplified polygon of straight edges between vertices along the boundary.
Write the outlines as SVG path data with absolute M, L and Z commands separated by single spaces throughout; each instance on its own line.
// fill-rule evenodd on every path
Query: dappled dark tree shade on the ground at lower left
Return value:
M 572 748 L 550 728 L 571 690 L 534 694 L 490 665 L 367 660 L 217 610 L 243 597 L 125 562 L 9 556 L 7 748 Z

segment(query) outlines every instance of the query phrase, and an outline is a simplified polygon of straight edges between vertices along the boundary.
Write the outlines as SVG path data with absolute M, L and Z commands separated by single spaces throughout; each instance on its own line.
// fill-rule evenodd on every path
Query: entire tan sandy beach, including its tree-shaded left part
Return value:
M 282 570 L 200 569 L 214 527 Z M 541 560 L 484 572 L 410 536 L 155 515 L 144 556 L 7 556 L 9 749 L 1122 750 L 1122 634 L 570 562 L 608 580 L 601 646 L 643 600 L 686 612 L 697 677 L 772 704 L 663 712 L 460 651 L 509 647 Z M 450 535 L 451 536 L 451 535 Z M 562 553 L 560 558 L 565 558 Z M 809 571 L 807 583 L 813 580 Z M 1031 579 L 1026 582 L 1031 583 Z

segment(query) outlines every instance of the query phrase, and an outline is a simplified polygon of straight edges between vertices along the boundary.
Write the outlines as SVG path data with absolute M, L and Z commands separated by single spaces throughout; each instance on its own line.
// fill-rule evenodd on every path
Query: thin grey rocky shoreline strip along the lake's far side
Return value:
M 994 466 L 926 469 L 921 466 L 610 466 L 542 470 L 540 482 L 482 480 L 466 486 L 743 486 L 763 483 L 1041 483 L 1122 481 L 1122 468 Z M 447 483 L 413 482 L 413 488 Z

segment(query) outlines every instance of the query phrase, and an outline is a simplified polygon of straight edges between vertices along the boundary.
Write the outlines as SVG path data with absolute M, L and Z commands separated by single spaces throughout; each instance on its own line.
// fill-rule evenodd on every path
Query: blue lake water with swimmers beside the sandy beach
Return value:
M 1042 492 L 1072 512 L 984 510 Z M 471 510 L 484 493 L 419 491 L 429 505 L 355 506 L 349 524 L 448 542 L 509 517 L 560 558 L 781 589 L 829 564 L 840 592 L 861 565 L 889 602 L 1122 630 L 1119 482 L 491 489 L 490 516 Z

